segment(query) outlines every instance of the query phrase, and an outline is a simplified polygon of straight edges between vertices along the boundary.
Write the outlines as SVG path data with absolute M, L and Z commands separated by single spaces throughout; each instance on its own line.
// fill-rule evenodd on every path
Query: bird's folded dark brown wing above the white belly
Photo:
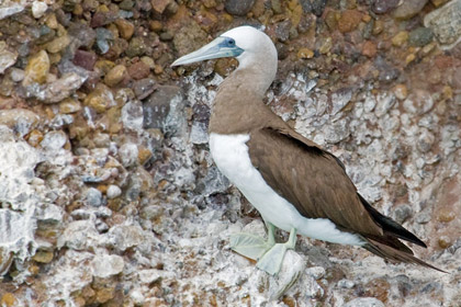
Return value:
M 381 237 L 340 162 L 283 127 L 250 132 L 252 164 L 277 193 L 307 218 L 328 218 L 346 231 Z

